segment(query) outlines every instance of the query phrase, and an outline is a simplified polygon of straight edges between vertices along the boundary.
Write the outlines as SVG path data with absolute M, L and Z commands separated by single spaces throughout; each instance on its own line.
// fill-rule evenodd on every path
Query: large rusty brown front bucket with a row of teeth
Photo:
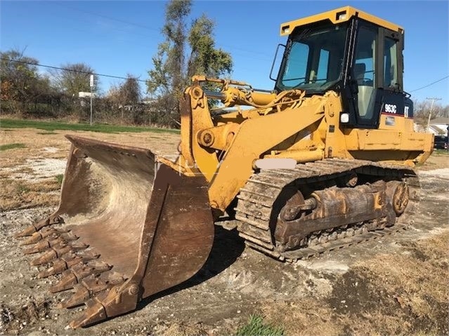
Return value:
M 206 261 L 214 224 L 202 176 L 186 177 L 148 149 L 68 136 L 60 206 L 16 236 L 41 253 L 39 277 L 74 288 L 60 307 L 86 304 L 72 328 L 136 309 L 138 301 L 193 276 Z

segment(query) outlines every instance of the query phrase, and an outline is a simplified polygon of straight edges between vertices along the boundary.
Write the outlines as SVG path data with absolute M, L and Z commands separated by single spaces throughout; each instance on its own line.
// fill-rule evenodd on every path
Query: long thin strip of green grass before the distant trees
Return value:
M 169 128 L 145 128 L 132 126 L 115 126 L 105 124 L 89 123 L 60 123 L 58 121 L 36 121 L 36 120 L 20 120 L 20 119 L 0 119 L 1 128 L 37 128 L 39 130 L 87 130 L 91 132 L 100 133 L 139 133 L 139 132 L 153 132 L 153 133 L 180 133 L 179 130 Z

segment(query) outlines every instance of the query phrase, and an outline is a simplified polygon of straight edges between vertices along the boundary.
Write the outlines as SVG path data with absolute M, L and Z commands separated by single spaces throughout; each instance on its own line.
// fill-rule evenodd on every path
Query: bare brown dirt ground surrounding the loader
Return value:
M 13 234 L 58 204 L 74 134 L 175 155 L 178 135 L 0 130 L 0 334 L 229 335 L 250 314 L 286 335 L 448 335 L 449 155 L 418 168 L 422 201 L 412 227 L 314 260 L 287 264 L 245 248 L 216 227 L 212 253 L 186 283 L 145 300 L 138 310 L 91 328 L 68 323 L 83 308 L 57 309 L 57 278 L 36 278 Z

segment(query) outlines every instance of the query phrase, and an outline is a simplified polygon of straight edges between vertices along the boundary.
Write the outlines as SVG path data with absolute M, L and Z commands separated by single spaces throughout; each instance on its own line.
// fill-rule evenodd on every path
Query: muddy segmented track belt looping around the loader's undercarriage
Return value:
M 394 177 L 397 180 L 402 178 L 406 181 L 410 199 L 405 213 L 396 218 L 396 224 L 382 230 L 369 231 L 298 250 L 289 250 L 283 253 L 276 250 L 269 220 L 273 203 L 278 198 L 280 191 L 290 183 L 316 185 L 318 182 L 318 185 L 325 188 L 334 185 L 335 179 L 344 177 L 351 171 L 377 176 L 381 179 L 382 177 Z M 405 166 L 363 160 L 325 159 L 298 164 L 294 170 L 261 170 L 260 173 L 254 173 L 245 187 L 240 189 L 237 199 L 235 219 L 238 221 L 239 235 L 245 238 L 246 245 L 279 260 L 294 262 L 407 229 L 412 223 L 419 203 L 419 180 L 412 168 Z

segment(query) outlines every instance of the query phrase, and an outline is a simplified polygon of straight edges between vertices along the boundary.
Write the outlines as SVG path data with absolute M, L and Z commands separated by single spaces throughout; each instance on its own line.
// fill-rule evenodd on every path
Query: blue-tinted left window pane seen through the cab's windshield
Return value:
M 290 49 L 287 69 L 282 78 L 283 86 L 298 86 L 306 81 L 309 48 L 307 44 L 293 42 Z

